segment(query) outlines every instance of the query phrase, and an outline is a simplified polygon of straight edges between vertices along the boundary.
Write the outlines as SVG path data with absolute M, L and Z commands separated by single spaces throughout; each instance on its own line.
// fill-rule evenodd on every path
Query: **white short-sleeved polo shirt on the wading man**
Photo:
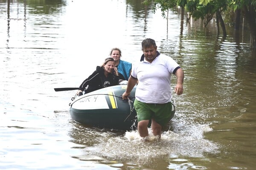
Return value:
M 163 104 L 170 102 L 171 75 L 177 62 L 164 54 L 158 55 L 152 63 L 144 61 L 132 67 L 131 76 L 139 80 L 135 97 L 140 102 Z

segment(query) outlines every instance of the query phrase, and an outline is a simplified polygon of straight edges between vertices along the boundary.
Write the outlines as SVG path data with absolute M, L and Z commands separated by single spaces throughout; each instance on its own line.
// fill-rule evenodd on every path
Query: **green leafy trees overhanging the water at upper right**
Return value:
M 252 47 L 256 48 L 256 0 L 144 0 L 144 3 L 153 1 L 153 10 L 160 8 L 163 17 L 165 11 L 169 8 L 176 8 L 180 6 L 190 12 L 190 15 L 196 19 L 203 19 L 204 26 L 207 26 L 213 15 L 216 15 L 217 31 L 219 34 L 219 24 L 223 31 L 223 37 L 227 36 L 224 20 L 221 13 L 227 10 L 227 7 L 237 12 L 236 29 L 239 26 L 240 13 L 243 14 L 245 20 L 248 22 L 250 28 L 250 35 L 252 40 Z

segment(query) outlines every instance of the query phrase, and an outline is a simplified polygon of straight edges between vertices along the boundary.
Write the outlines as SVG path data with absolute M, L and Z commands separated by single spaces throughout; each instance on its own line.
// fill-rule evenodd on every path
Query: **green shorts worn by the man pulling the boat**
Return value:
M 164 104 L 143 103 L 135 99 L 134 108 L 138 122 L 154 119 L 161 126 L 165 126 L 174 116 L 175 106 L 172 102 Z

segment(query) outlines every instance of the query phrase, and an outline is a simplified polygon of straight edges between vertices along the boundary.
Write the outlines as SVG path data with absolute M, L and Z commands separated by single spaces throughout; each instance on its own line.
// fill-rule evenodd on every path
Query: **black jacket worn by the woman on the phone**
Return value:
M 119 79 L 124 79 L 122 74 L 116 76 L 114 74 L 108 74 L 108 77 L 104 75 L 104 68 L 103 67 L 96 67 L 96 71 L 93 72 L 87 79 L 85 79 L 79 87 L 79 90 L 84 91 L 84 89 L 88 86 L 85 90 L 85 94 L 96 91 L 101 88 L 105 88 L 108 86 L 118 85 Z

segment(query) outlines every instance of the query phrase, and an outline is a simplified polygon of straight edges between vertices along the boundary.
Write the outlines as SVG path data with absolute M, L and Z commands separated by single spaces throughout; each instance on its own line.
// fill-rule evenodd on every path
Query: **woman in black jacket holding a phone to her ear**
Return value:
M 122 74 L 118 73 L 114 59 L 112 57 L 108 57 L 105 59 L 102 66 L 97 66 L 96 71 L 82 82 L 79 90 L 77 91 L 77 95 L 81 96 L 83 91 L 87 94 L 101 88 L 118 85 L 119 79 L 124 79 L 124 77 Z M 87 89 L 85 90 L 86 87 Z

